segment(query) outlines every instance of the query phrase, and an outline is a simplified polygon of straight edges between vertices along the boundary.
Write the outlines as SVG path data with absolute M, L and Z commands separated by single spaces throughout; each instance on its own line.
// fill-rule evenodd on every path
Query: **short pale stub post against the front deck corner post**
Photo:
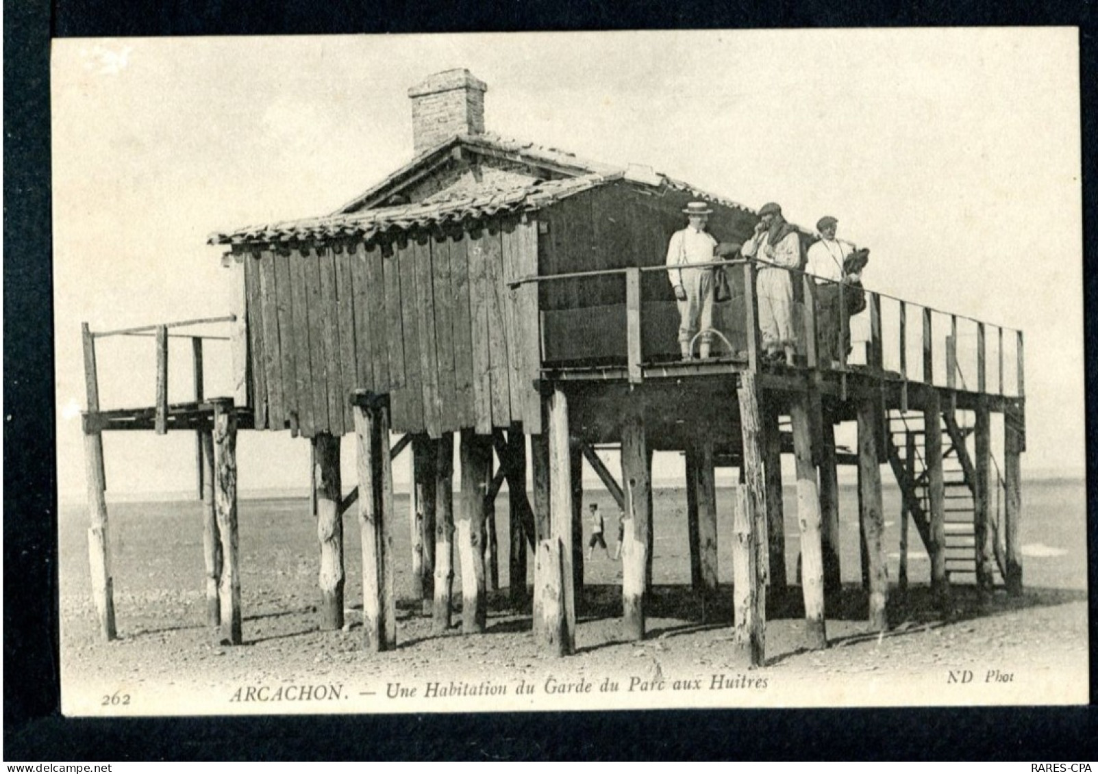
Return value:
M 754 500 L 748 487 L 732 489 L 732 593 L 735 595 L 735 634 L 738 660 L 751 667 L 766 663 L 766 623 L 762 615 L 762 585 L 755 545 Z M 821 612 L 822 615 L 822 612 Z

